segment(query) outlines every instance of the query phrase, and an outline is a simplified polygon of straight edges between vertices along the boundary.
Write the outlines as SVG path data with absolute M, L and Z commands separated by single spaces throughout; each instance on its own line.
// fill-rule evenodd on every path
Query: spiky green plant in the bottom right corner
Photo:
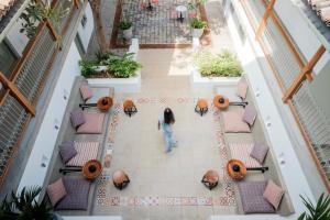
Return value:
M 302 199 L 304 205 L 308 209 L 308 213 L 304 212 L 300 215 L 298 220 L 329 220 L 330 219 L 330 197 L 329 195 L 324 197 L 324 194 L 320 196 L 315 206 L 309 198 Z

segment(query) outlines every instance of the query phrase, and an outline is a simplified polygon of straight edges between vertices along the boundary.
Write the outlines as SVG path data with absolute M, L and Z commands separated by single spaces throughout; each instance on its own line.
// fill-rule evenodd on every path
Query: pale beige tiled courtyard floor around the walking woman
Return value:
M 195 113 L 198 98 L 212 99 L 212 89 L 193 92 L 187 69 L 189 51 L 143 50 L 140 94 L 117 94 L 109 132 L 111 167 L 98 182 L 94 215 L 120 215 L 123 219 L 207 219 L 211 215 L 235 213 L 234 184 L 224 163 L 227 154 L 219 112 L 211 107 L 202 118 Z M 122 112 L 122 101 L 132 98 L 139 112 Z M 179 142 L 165 154 L 157 118 L 165 107 L 174 110 L 175 134 Z M 200 179 L 207 169 L 220 174 L 212 191 Z M 131 184 L 117 190 L 111 175 L 124 169 Z

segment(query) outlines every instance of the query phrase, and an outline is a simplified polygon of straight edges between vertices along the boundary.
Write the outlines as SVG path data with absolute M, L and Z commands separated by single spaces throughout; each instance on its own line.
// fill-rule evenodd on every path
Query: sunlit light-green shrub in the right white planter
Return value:
M 194 56 L 194 62 L 205 77 L 239 77 L 242 74 L 240 62 L 229 51 L 217 55 L 201 52 Z

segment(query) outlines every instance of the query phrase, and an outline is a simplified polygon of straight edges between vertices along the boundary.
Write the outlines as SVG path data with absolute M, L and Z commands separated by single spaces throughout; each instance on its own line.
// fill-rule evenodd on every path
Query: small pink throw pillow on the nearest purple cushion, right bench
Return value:
M 272 179 L 268 180 L 263 197 L 273 205 L 273 207 L 277 210 L 282 197 L 284 195 L 283 188 L 277 186 Z

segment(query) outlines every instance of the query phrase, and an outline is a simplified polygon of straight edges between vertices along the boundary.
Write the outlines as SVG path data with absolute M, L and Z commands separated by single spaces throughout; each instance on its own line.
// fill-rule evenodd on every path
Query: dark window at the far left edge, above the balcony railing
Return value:
M 11 76 L 11 72 L 15 67 L 18 56 L 10 48 L 10 46 L 2 41 L 0 43 L 0 72 L 2 72 L 8 78 Z

